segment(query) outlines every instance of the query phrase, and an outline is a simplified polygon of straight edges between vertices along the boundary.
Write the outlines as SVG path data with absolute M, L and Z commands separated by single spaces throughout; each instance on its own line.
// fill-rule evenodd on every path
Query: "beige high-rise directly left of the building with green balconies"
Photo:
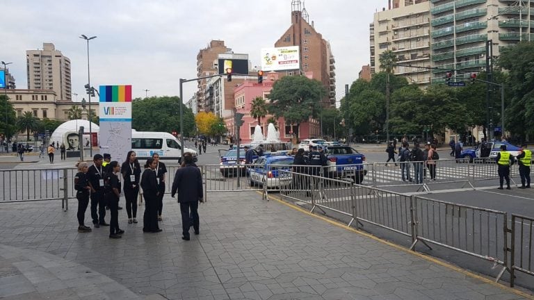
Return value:
M 391 3 L 390 3 L 391 6 Z M 430 83 L 430 2 L 394 1 L 390 10 L 375 12 L 369 26 L 371 74 L 380 72 L 380 54 L 393 51 L 398 58 L 394 74 L 409 83 Z

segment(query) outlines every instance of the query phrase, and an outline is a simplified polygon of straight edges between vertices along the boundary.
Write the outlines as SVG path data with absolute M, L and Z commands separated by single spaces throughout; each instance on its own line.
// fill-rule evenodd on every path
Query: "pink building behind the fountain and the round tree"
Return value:
M 254 134 L 254 129 L 258 125 L 258 120 L 254 119 L 250 115 L 250 108 L 252 106 L 252 100 L 256 97 L 263 97 L 267 102 L 269 101 L 270 90 L 273 88 L 273 84 L 277 80 L 279 74 L 277 73 L 267 73 L 264 75 L 264 83 L 257 83 L 255 79 L 245 80 L 241 85 L 238 85 L 234 88 L 234 106 L 237 113 L 243 113 L 243 126 L 239 128 L 240 138 L 242 143 L 248 143 L 252 141 L 252 135 Z M 266 115 L 266 117 L 261 118 L 261 124 L 264 136 L 267 134 L 267 120 L 273 117 L 272 115 Z M 226 126 L 230 133 L 235 132 L 234 128 L 234 117 L 229 116 L 225 118 Z M 280 140 L 283 142 L 293 141 L 296 143 L 296 138 L 298 140 L 303 140 L 306 138 L 318 137 L 320 134 L 319 122 L 316 119 L 309 119 L 308 122 L 300 123 L 291 126 L 291 124 L 285 124 L 284 118 L 280 117 L 277 119 L 275 127 L 278 128 L 280 132 Z

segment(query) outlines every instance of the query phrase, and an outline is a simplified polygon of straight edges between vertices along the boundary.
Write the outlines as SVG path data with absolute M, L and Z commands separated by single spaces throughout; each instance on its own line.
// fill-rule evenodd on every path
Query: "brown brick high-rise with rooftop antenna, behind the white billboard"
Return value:
M 300 52 L 300 73 L 312 72 L 314 79 L 321 81 L 328 94 L 323 105 L 334 106 L 336 100 L 335 59 L 330 43 L 309 24 L 306 8 L 300 0 L 291 1 L 291 26 L 275 42 L 275 47 L 298 46 Z M 286 72 L 288 75 L 294 71 Z M 298 74 L 298 72 L 296 73 Z

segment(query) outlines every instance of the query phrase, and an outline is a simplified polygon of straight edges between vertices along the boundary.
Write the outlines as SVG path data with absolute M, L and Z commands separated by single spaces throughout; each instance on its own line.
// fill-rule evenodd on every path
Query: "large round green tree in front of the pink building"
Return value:
M 318 117 L 319 103 L 326 90 L 315 79 L 305 76 L 284 76 L 273 85 L 269 98 L 269 113 L 275 118 L 284 117 L 286 124 L 307 122 Z

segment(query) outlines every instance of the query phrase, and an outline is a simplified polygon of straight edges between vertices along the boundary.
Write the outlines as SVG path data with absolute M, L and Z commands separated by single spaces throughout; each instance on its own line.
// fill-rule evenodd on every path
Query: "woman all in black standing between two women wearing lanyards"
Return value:
M 143 215 L 143 232 L 158 233 L 158 180 L 156 177 L 156 160 L 149 158 L 141 178 L 141 188 L 145 196 L 145 214 Z

